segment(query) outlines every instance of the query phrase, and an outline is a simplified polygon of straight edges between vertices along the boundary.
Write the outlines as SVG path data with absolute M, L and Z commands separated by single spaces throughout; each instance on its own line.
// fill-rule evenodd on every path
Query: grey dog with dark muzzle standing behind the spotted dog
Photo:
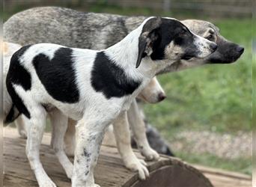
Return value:
M 64 7 L 35 7 L 16 13 L 7 22 L 4 22 L 4 40 L 19 43 L 22 46 L 29 43 L 58 43 L 71 47 L 106 49 L 123 39 L 145 18 L 145 16 L 120 16 L 108 13 L 82 13 Z M 182 23 L 195 34 L 217 43 L 218 49 L 207 58 L 179 61 L 176 65 L 166 68 L 162 73 L 182 70 L 190 67 L 191 64 L 231 63 L 237 61 L 243 54 L 243 47 L 222 37 L 216 25 L 195 19 L 183 20 Z M 135 108 L 138 107 L 135 105 Z M 138 109 L 142 111 L 141 108 Z M 135 127 L 141 127 L 140 124 L 143 123 L 143 120 L 138 114 L 133 115 L 132 119 L 135 119 L 133 121 L 137 123 Z M 131 120 L 129 119 L 130 124 L 132 124 Z M 69 129 L 72 129 L 72 126 Z M 143 134 L 141 130 L 136 129 L 136 131 Z M 24 135 L 22 129 L 20 132 Z M 66 140 L 73 139 L 70 137 L 72 133 L 67 133 L 67 135 L 69 136 Z M 147 138 L 150 141 L 150 146 L 158 153 L 172 155 L 159 133 L 148 123 Z M 141 141 L 143 138 L 137 139 Z M 138 141 L 136 142 L 139 144 L 138 147 L 145 142 Z M 70 145 L 72 143 L 69 143 L 68 147 L 72 147 Z M 68 153 L 73 153 L 72 149 L 67 150 Z M 150 158 L 150 154 L 147 157 Z

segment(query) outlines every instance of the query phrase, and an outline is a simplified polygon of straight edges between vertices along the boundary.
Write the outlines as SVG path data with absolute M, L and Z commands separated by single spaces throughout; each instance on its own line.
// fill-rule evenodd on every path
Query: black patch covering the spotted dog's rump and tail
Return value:
M 13 105 L 15 105 L 15 107 L 19 110 L 20 113 L 25 114 L 25 116 L 28 117 L 28 119 L 30 118 L 30 113 L 28 109 L 25 107 L 24 103 L 22 102 L 22 99 L 14 90 L 13 84 L 22 86 L 22 88 L 24 88 L 25 91 L 31 89 L 31 75 L 28 73 L 27 70 L 25 70 L 24 67 L 22 67 L 19 61 L 19 58 L 30 46 L 31 45 L 24 46 L 13 54 L 12 58 L 10 59 L 10 67 L 6 76 L 6 87 L 13 101 Z M 13 106 L 10 110 L 10 112 L 13 115 L 15 114 L 14 109 L 15 108 Z M 9 122 L 11 122 L 12 120 L 15 120 L 18 116 L 19 114 L 17 114 L 16 116 L 11 116 L 11 114 L 9 113 L 7 115 L 8 119 L 6 119 L 6 121 L 8 120 Z

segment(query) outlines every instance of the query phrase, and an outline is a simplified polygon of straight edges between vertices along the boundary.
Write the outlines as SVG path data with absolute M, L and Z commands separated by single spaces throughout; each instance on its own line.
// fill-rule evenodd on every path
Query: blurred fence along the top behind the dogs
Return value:
M 165 12 L 189 10 L 192 13 L 210 14 L 211 16 L 252 16 L 253 0 L 5 0 L 5 10 L 11 8 L 13 4 L 19 6 L 29 4 L 39 5 L 59 5 L 76 7 L 87 6 L 88 4 L 108 4 L 121 7 L 141 7 L 153 10 L 163 10 Z

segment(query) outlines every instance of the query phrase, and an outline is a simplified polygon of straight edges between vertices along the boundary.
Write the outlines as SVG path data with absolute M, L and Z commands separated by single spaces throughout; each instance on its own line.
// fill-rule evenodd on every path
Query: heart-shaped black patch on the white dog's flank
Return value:
M 39 54 L 33 59 L 37 76 L 49 95 L 68 103 L 79 101 L 71 55 L 72 49 L 61 47 L 55 52 L 52 60 L 44 54 Z

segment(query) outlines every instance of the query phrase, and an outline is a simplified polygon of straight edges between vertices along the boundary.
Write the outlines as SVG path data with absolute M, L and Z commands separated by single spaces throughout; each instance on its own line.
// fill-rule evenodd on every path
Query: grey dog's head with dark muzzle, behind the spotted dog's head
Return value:
M 197 19 L 186 19 L 181 22 L 193 33 L 216 43 L 218 48 L 205 58 L 191 58 L 176 61 L 160 71 L 159 74 L 183 70 L 189 67 L 197 67 L 203 64 L 230 64 L 237 61 L 243 54 L 244 48 L 222 37 L 219 28 L 212 23 Z

